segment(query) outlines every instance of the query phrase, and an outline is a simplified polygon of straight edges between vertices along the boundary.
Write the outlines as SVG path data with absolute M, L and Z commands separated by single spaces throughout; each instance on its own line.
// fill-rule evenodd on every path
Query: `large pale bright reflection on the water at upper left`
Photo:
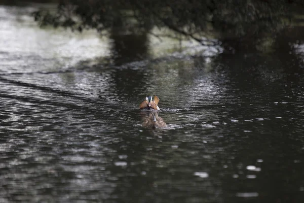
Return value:
M 64 29 L 40 29 L 31 7 L 0 7 L 1 71 L 30 73 L 64 71 L 81 60 L 108 56 L 109 42 L 93 31 L 83 35 Z

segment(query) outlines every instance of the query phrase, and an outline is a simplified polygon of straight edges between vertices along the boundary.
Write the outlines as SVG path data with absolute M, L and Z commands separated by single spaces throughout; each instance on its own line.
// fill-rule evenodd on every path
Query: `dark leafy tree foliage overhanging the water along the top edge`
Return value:
M 280 30 L 300 0 L 62 0 L 56 13 L 38 11 L 42 26 L 111 30 L 116 33 L 150 32 L 169 28 L 178 35 L 206 43 L 206 38 L 238 41 L 257 39 Z M 283 23 L 285 22 L 285 24 Z M 207 42 L 209 43 L 209 42 Z

